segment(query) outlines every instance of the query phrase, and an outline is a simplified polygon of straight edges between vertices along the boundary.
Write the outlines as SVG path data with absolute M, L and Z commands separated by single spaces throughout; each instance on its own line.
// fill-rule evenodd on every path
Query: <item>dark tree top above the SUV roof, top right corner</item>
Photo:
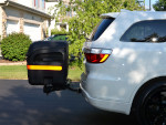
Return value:
M 166 0 L 158 0 L 153 7 L 156 11 L 166 11 Z

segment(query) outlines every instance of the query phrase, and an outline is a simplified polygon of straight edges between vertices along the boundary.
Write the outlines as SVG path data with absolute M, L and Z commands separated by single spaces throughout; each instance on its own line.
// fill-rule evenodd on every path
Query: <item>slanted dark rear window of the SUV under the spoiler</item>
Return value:
M 91 40 L 92 41 L 97 40 L 114 20 L 115 19 L 113 18 L 103 19 L 101 23 L 95 28 Z

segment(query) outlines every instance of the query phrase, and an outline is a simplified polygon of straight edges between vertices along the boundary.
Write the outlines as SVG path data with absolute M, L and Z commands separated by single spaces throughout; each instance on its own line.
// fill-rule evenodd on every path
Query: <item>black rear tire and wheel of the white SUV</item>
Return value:
M 141 125 L 166 125 L 166 82 L 144 88 L 137 96 L 134 114 Z

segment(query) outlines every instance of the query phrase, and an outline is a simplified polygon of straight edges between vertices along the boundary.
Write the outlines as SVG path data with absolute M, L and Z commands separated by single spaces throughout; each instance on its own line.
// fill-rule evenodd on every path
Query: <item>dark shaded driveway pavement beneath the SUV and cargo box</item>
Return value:
M 46 96 L 28 81 L 0 80 L 0 125 L 137 125 L 132 116 L 91 106 L 70 91 Z

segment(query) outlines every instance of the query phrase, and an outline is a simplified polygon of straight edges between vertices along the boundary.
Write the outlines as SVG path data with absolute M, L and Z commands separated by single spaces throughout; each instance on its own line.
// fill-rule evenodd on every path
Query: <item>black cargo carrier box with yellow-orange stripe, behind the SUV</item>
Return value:
M 69 66 L 66 41 L 38 41 L 28 51 L 28 77 L 31 85 L 65 88 Z

